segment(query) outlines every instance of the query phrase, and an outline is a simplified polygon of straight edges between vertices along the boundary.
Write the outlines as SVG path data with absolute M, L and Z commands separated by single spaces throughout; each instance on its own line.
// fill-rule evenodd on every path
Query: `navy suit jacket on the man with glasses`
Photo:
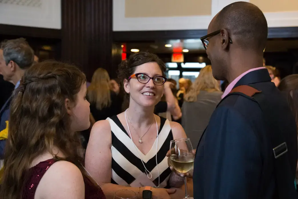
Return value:
M 235 87 L 239 85 L 262 91 L 272 111 L 277 111 L 278 117 L 272 124 L 284 134 L 294 186 L 297 127 L 287 101 L 271 82 L 267 69 L 246 74 Z M 274 156 L 266 137 L 267 130 L 257 102 L 237 94 L 221 100 L 197 147 L 194 198 L 278 198 L 273 173 Z

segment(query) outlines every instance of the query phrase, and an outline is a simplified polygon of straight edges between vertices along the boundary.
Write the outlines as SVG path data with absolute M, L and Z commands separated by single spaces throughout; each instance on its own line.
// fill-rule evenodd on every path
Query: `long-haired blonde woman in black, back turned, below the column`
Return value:
M 90 102 L 90 111 L 96 121 L 105 120 L 122 112 L 121 99 L 117 97 L 112 84 L 113 82 L 105 69 L 98 68 L 94 72 L 91 84 L 87 89 L 87 98 Z

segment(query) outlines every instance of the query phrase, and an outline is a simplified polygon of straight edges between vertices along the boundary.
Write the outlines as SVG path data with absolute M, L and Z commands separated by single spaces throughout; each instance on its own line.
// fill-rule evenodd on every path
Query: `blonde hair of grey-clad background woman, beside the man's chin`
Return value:
M 200 91 L 220 91 L 218 81 L 212 76 L 211 65 L 201 69 L 199 76 L 195 79 L 184 99 L 187 102 L 195 102 Z

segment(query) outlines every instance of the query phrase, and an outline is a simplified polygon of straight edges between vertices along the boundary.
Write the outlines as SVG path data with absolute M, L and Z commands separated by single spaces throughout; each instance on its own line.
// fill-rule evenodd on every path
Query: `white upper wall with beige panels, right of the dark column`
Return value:
M 239 0 L 113 0 L 113 30 L 207 29 L 213 16 L 235 1 Z M 260 7 L 268 27 L 298 27 L 298 0 L 241 1 Z

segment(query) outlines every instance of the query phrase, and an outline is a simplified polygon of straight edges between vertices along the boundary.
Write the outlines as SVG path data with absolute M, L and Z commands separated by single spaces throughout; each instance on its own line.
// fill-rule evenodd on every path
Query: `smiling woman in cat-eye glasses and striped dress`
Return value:
M 166 154 L 170 140 L 186 137 L 185 132 L 153 113 L 163 95 L 165 70 L 162 60 L 148 52 L 132 54 L 120 65 L 129 108 L 94 124 L 85 160 L 107 198 L 120 189 L 145 199 L 184 197 L 182 188 L 169 189 L 181 187 L 183 178 L 172 174 Z

